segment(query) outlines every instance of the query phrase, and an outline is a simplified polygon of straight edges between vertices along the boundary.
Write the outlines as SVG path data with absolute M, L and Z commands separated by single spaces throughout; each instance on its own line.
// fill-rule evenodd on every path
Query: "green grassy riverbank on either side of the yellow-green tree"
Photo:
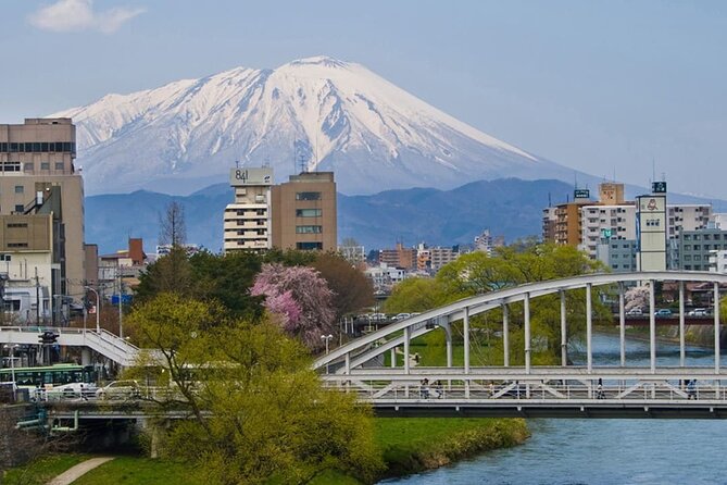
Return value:
M 475 418 L 381 418 L 375 420 L 375 433 L 387 464 L 384 476 L 434 469 L 487 450 L 514 446 L 528 437 L 523 420 Z M 88 458 L 86 455 L 50 456 L 8 471 L 0 483 L 46 484 L 53 476 Z M 122 456 L 91 470 L 74 485 L 208 485 L 195 472 L 187 463 Z M 330 471 L 313 483 L 354 485 L 360 482 Z

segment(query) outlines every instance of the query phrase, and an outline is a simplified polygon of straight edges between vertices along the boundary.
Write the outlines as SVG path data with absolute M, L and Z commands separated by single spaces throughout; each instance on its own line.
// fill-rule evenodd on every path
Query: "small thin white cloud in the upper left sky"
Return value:
M 28 16 L 28 22 L 41 30 L 82 32 L 98 30 L 113 34 L 127 21 L 145 9 L 117 7 L 104 12 L 93 11 L 93 0 L 59 0 Z

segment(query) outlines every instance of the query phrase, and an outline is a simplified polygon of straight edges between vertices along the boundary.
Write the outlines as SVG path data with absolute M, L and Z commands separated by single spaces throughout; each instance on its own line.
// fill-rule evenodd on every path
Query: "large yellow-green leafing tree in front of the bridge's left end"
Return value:
M 177 389 L 158 403 L 191 416 L 175 423 L 162 451 L 211 484 L 308 483 L 330 469 L 371 481 L 381 467 L 371 409 L 325 389 L 308 351 L 277 325 L 220 309 L 160 295 L 130 318 Z

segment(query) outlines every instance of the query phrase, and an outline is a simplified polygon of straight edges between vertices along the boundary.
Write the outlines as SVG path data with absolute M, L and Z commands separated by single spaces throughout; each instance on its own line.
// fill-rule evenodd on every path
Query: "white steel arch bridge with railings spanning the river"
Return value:
M 656 361 L 660 345 L 654 288 L 657 283 L 678 286 L 679 360 L 668 366 Z M 326 385 L 358 393 L 379 415 L 472 415 L 555 418 L 727 418 L 727 373 L 720 366 L 719 306 L 714 304 L 713 365 L 686 363 L 685 284 L 706 284 L 711 299 L 719 301 L 727 275 L 703 272 L 637 272 L 589 274 L 526 284 L 463 299 L 390 324 L 358 338 L 314 362 Z M 649 359 L 629 362 L 626 352 L 624 294 L 627 283 L 650 288 Z M 593 290 L 606 290 L 618 302 L 619 362 L 593 361 Z M 575 290 L 578 290 L 575 293 Z M 584 291 L 585 290 L 585 291 Z M 584 295 L 585 294 L 585 295 Z M 561 365 L 535 365 L 531 306 L 547 295 L 560 296 Z M 568 361 L 568 319 L 574 298 L 585 299 L 585 363 Z M 551 302 L 553 298 L 550 299 Z M 556 300 L 555 300 L 556 301 Z M 584 302 L 578 300 L 582 309 Z M 522 325 L 524 365 L 511 365 L 511 310 L 517 303 Z M 514 307 L 513 307 L 514 308 Z M 471 361 L 471 338 L 477 328 L 471 319 L 499 309 L 503 365 L 476 366 Z M 501 318 L 500 318 L 501 315 Z M 488 318 L 488 322 L 492 319 Z M 436 328 L 446 335 L 447 364 L 424 366 L 412 359 L 413 339 Z M 453 334 L 461 332 L 464 355 L 453 364 Z M 403 364 L 397 355 L 403 351 Z M 387 352 L 390 364 L 384 364 Z M 460 360 L 460 359 L 457 359 Z

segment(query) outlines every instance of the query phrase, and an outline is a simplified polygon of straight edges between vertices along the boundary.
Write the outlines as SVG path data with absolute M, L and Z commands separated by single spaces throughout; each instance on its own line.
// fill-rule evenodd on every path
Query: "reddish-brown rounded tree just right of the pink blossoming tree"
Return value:
M 318 254 L 313 268 L 333 291 L 336 319 L 374 304 L 374 286 L 363 272 L 335 252 Z

